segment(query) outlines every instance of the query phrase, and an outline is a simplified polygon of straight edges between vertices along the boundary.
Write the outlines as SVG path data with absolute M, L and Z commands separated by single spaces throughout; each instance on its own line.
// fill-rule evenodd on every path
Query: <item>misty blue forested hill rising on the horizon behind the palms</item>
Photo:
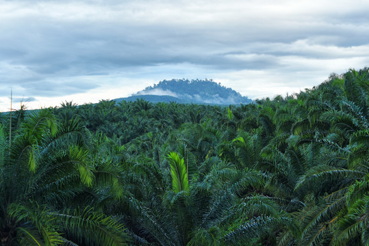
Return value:
M 157 85 L 145 88 L 128 98 L 119 100 L 136 100 L 144 98 L 150 102 L 184 102 L 214 105 L 238 105 L 252 102 L 250 98 L 242 96 L 240 93 L 208 80 L 172 79 L 170 81 L 160 81 Z

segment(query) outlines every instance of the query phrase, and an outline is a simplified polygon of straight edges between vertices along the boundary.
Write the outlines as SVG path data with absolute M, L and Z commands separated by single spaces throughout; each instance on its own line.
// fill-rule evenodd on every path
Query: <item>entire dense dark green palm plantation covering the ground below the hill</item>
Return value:
M 369 72 L 240 107 L 103 100 L 0 128 L 2 245 L 369 245 Z

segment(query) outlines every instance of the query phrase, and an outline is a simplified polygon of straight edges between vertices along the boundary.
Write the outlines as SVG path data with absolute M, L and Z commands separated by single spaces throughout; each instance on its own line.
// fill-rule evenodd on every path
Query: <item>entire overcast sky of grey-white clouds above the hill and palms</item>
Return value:
M 214 79 L 249 98 L 369 66 L 369 1 L 2 1 L 0 111 Z

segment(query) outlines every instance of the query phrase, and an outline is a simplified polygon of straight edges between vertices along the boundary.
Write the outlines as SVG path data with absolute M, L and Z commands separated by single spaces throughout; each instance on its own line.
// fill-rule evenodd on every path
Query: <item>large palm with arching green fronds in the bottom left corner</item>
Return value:
M 58 124 L 51 109 L 41 109 L 25 117 L 11 143 L 1 130 L 1 245 L 127 242 L 112 217 L 92 208 L 80 211 L 88 202 L 66 209 L 97 182 L 86 128 L 75 120 Z

